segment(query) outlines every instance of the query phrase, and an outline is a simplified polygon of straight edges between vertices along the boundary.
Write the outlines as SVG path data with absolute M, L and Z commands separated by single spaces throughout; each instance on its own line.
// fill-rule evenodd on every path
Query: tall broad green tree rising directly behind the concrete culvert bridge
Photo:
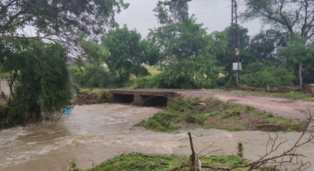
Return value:
M 158 1 L 154 11 L 162 26 L 152 29 L 147 39 L 159 48 L 157 66 L 169 87 L 214 87 L 221 70 L 209 54 L 212 39 L 203 24 L 188 16 L 188 1 Z

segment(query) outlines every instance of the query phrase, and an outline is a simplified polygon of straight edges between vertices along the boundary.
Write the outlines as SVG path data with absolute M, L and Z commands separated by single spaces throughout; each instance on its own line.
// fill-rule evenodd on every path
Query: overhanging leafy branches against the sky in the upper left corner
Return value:
M 0 40 L 33 39 L 58 42 L 79 51 L 81 33 L 96 39 L 105 25 L 116 26 L 116 13 L 127 8 L 123 0 L 1 0 Z M 33 28 L 28 36 L 25 28 Z

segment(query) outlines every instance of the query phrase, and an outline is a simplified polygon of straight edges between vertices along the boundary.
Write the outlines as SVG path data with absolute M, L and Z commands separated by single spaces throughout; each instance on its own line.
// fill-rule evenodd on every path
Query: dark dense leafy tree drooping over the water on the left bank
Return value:
M 1 53 L 0 64 L 10 73 L 11 98 L 1 93 L 8 110 L 0 127 L 41 120 L 41 113 L 61 111 L 72 98 L 65 49 L 56 44 L 16 40 Z M 23 46 L 21 46 L 21 44 Z

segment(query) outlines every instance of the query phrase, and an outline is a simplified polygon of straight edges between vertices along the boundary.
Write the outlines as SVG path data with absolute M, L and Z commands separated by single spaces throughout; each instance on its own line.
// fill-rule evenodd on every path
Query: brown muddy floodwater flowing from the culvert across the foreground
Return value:
M 127 104 L 76 106 L 59 122 L 39 123 L 25 128 L 0 131 L 0 171 L 66 171 L 67 159 L 77 160 L 79 169 L 89 169 L 123 151 L 144 153 L 190 154 L 187 131 L 181 133 L 131 131 L 133 124 L 147 120 L 161 111 L 157 107 L 133 107 Z M 223 149 L 224 154 L 235 154 L 237 143 L 244 147 L 244 157 L 258 159 L 265 153 L 268 134 L 262 131 L 230 132 L 218 129 L 190 130 L 198 151 Z M 274 133 L 270 133 L 274 135 Z M 279 132 L 278 141 L 288 140 L 276 154 L 294 145 L 299 132 Z M 303 161 L 314 161 L 314 144 L 299 149 L 307 156 Z M 222 154 L 218 152 L 217 154 Z M 313 171 L 314 167 L 308 169 Z

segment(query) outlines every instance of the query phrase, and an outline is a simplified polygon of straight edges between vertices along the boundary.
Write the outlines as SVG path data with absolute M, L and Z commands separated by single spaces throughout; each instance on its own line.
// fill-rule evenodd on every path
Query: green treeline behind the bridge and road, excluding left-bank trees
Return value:
M 84 74 L 88 81 L 79 79 L 74 72 L 75 80 L 83 87 L 230 87 L 231 27 L 208 33 L 193 15 L 188 14 L 188 1 L 159 1 L 154 11 L 161 26 L 150 29 L 144 39 L 141 39 L 136 30 L 129 30 L 126 25 L 109 30 L 104 34 L 101 43 L 110 53 L 103 58 L 108 71 L 105 67 L 100 67 L 103 75 L 99 76 L 86 69 Z M 241 19 L 251 20 L 254 15 L 258 15 L 250 7 L 253 3 L 259 8 L 276 10 L 276 6 L 264 6 L 264 3 L 247 0 L 249 8 L 241 14 Z M 290 3 L 292 2 L 285 2 L 283 5 L 291 5 Z M 299 2 L 293 3 L 300 5 Z M 313 4 L 309 4 L 306 9 L 313 9 Z M 314 21 L 309 17 L 313 16 L 314 14 L 302 16 L 307 20 L 304 23 L 300 20 L 301 16 L 296 16 L 292 11 L 276 16 L 275 19 L 270 16 L 263 24 L 270 24 L 271 29 L 262 30 L 254 36 L 249 36 L 248 29 L 238 25 L 240 62 L 243 66 L 240 72 L 241 83 L 263 88 L 314 83 L 313 34 L 310 34 L 312 30 L 300 30 L 299 27 L 292 26 L 291 32 L 289 29 L 292 23 L 286 23 L 295 21 L 310 28 L 310 23 Z M 283 22 L 287 17 L 289 20 Z M 150 77 L 150 73 L 143 67 L 144 64 L 155 66 L 160 73 Z M 89 83 L 98 78 L 103 78 L 106 84 Z M 235 82 L 236 78 L 233 79 Z

